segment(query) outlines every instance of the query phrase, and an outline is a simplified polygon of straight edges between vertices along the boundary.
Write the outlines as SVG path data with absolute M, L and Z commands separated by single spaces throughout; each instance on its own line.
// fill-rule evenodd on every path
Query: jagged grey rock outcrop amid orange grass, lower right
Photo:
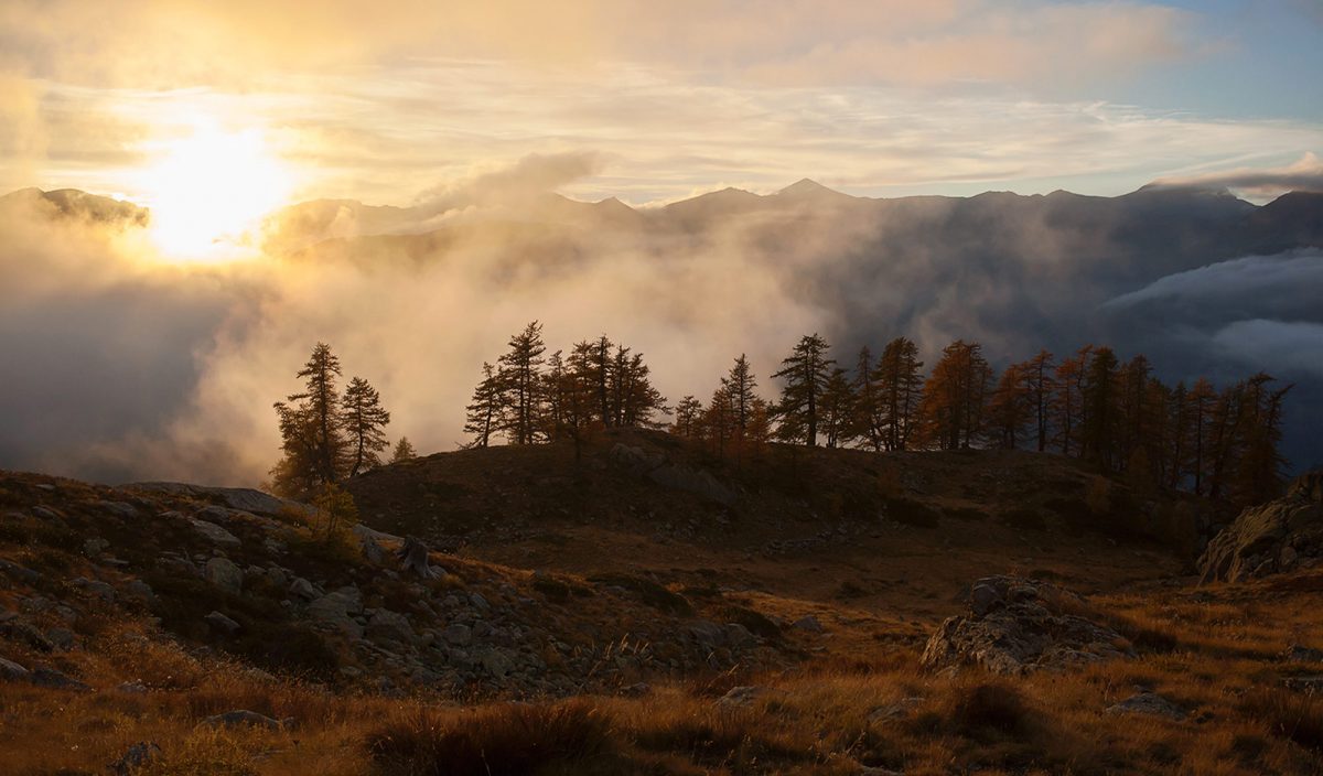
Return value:
M 1088 616 L 1081 596 L 1054 584 L 988 576 L 974 583 L 968 603 L 968 613 L 949 617 L 927 640 L 925 668 L 980 665 L 1017 676 L 1131 654 L 1121 633 Z

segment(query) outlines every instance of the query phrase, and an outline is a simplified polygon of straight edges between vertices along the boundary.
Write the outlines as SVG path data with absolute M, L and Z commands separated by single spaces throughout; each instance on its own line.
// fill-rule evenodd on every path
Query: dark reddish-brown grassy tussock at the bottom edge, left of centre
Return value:
M 610 726 L 581 699 L 509 703 L 474 713 L 422 709 L 368 736 L 382 773 L 409 776 L 516 776 L 607 752 Z

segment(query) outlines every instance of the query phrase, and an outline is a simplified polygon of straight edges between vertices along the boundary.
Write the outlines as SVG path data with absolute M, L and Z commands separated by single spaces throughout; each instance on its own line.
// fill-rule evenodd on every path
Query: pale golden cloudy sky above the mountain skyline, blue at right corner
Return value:
M 200 134 L 261 147 L 230 167 L 262 168 L 265 206 L 409 205 L 566 153 L 591 163 L 562 193 L 631 205 L 802 177 L 882 197 L 1316 180 L 1320 42 L 1318 0 L 5 0 L 0 189 L 159 206 Z

